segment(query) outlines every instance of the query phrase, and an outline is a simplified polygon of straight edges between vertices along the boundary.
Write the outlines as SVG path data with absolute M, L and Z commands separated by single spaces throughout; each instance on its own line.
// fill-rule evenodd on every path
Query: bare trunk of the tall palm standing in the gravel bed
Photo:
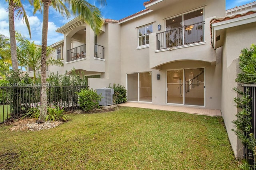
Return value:
M 51 0 L 42 0 L 44 4 L 43 13 L 43 28 L 42 28 L 42 59 L 41 59 L 41 104 L 40 104 L 40 117 L 38 122 L 44 122 L 47 116 L 47 94 L 46 94 L 46 47 L 47 47 L 47 32 L 48 32 L 48 17 L 49 17 L 49 4 Z

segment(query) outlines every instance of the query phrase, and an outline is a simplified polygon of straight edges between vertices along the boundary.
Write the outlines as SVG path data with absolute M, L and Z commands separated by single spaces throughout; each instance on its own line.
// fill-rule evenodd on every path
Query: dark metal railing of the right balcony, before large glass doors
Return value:
M 204 41 L 204 21 L 156 34 L 157 49 Z

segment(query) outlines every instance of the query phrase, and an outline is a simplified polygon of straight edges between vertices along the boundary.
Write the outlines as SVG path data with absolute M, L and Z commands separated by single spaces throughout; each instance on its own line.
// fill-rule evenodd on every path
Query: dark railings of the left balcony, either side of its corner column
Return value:
M 67 62 L 86 58 L 86 44 L 67 50 Z M 94 58 L 104 59 L 104 47 L 94 45 Z

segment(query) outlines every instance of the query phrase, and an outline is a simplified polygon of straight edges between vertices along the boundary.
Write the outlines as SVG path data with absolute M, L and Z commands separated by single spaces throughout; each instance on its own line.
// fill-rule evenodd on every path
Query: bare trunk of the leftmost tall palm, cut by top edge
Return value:
M 14 27 L 14 2 L 13 0 L 8 0 L 9 2 L 9 32 L 10 32 L 10 45 L 11 45 L 11 55 L 12 55 L 12 69 L 18 71 L 18 58 L 15 40 L 15 27 Z

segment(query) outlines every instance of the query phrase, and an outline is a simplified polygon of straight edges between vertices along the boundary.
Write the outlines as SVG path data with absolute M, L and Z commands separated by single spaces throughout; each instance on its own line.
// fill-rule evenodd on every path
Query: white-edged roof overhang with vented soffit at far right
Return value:
M 216 49 L 223 45 L 227 28 L 241 26 L 244 24 L 250 24 L 253 22 L 256 22 L 256 13 L 213 23 L 212 24 L 212 47 Z

